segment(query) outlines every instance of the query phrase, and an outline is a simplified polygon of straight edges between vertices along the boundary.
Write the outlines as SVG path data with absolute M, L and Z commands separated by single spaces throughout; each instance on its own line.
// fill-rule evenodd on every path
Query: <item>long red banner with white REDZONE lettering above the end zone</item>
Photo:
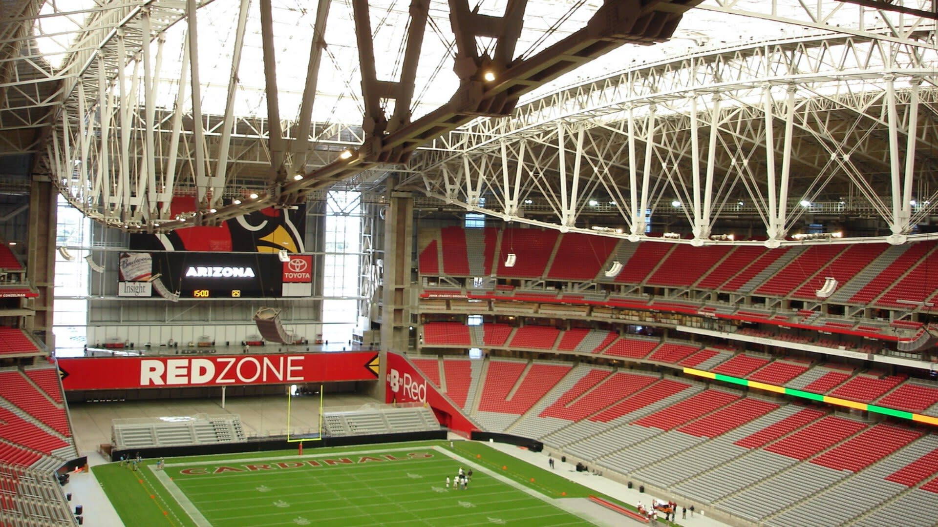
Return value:
M 58 359 L 66 390 L 374 381 L 378 354 L 243 354 Z

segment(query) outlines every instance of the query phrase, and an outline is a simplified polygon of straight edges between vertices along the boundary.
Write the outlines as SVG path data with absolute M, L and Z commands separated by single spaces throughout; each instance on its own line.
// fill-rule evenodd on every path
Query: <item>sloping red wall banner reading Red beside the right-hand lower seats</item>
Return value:
M 399 354 L 387 354 L 385 402 L 422 402 L 433 409 L 441 425 L 466 434 L 477 429 L 430 381 Z

